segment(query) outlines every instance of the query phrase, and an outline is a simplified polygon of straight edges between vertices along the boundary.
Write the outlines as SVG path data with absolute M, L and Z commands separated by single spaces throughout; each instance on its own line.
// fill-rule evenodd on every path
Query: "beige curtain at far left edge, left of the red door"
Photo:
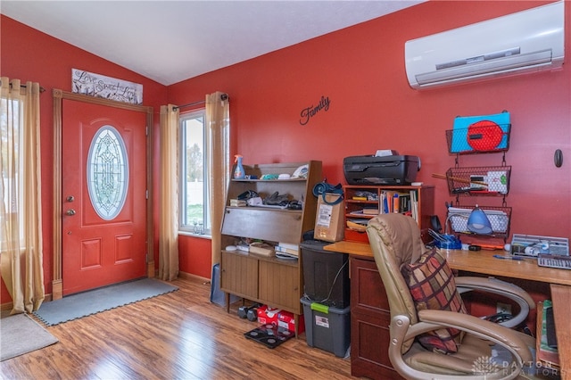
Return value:
M 44 301 L 37 83 L 1 78 L 0 261 L 12 314 Z

